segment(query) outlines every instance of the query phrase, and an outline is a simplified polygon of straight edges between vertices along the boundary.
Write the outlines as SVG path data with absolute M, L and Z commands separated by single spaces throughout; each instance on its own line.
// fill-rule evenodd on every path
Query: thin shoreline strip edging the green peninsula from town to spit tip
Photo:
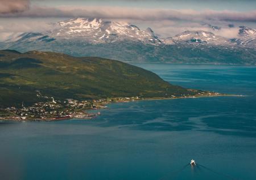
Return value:
M 224 96 L 230 96 L 230 97 L 247 97 L 246 95 L 201 95 L 201 96 L 186 96 L 186 97 L 148 97 L 143 98 L 139 100 L 133 100 L 133 101 L 117 101 L 117 102 L 109 102 L 107 104 L 113 104 L 113 103 L 120 103 L 120 102 L 135 102 L 135 101 L 155 101 L 155 100 L 175 100 L 175 99 L 181 99 L 181 98 L 201 98 L 201 97 L 224 97 Z M 87 109 L 87 110 L 96 110 L 96 109 Z M 12 121 L 12 122 L 54 122 L 54 121 L 64 121 L 68 119 L 81 119 L 81 120 L 92 120 L 96 117 L 88 117 L 88 118 L 76 118 L 76 117 L 63 117 L 63 118 L 46 118 L 46 119 L 10 119 L 10 118 L 0 118 L 1 121 Z

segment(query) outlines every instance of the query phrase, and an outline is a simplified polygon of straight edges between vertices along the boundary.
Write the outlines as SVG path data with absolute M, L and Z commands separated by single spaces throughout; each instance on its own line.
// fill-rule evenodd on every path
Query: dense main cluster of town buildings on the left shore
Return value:
M 17 108 L 11 106 L 2 109 L 5 112 L 5 116 L 1 116 L 0 120 L 16 120 L 16 121 L 60 121 L 64 119 L 93 119 L 100 112 L 88 113 L 89 109 L 106 109 L 105 106 L 111 100 L 91 100 L 91 101 L 78 101 L 73 99 L 67 99 L 64 101 L 55 100 L 51 97 L 51 101 L 37 102 L 31 106 L 25 106 L 22 103 L 22 107 Z

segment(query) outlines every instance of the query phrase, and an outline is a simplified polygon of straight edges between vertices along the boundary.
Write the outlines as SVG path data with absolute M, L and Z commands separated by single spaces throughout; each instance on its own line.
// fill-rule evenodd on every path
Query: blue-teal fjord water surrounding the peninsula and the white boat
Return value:
M 246 96 L 110 104 L 93 121 L 1 122 L 0 179 L 255 179 L 256 67 L 134 65 Z

